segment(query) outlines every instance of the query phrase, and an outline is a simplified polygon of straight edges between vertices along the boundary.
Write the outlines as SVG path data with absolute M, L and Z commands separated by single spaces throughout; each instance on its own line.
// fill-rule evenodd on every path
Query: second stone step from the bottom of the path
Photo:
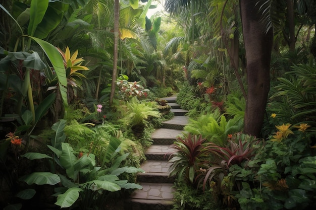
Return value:
M 138 182 L 150 183 L 174 183 L 175 177 L 170 177 L 170 166 L 168 161 L 147 160 L 141 164 L 140 168 L 145 173 L 137 174 Z

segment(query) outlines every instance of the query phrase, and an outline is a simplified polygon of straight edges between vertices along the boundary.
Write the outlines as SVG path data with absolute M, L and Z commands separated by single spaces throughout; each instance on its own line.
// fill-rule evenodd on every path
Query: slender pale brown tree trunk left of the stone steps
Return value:
M 115 81 L 117 79 L 118 68 L 118 40 L 119 40 L 119 18 L 120 18 L 120 0 L 114 1 L 114 52 L 113 52 L 113 73 L 112 73 L 112 86 L 110 94 L 110 106 L 113 104 L 115 94 Z

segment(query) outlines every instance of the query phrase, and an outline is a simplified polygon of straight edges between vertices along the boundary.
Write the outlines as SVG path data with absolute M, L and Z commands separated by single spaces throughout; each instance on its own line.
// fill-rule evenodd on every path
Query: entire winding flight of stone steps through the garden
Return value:
M 168 101 L 175 116 L 164 121 L 162 127 L 151 134 L 153 145 L 147 149 L 147 160 L 141 165 L 145 173 L 137 174 L 137 182 L 143 188 L 130 195 L 125 202 L 125 210 L 170 210 L 173 207 L 172 187 L 175 178 L 169 177 L 171 163 L 168 158 L 175 150 L 170 146 L 188 123 L 188 117 L 184 116 L 187 110 L 180 109 L 180 105 L 175 103 L 176 98 L 163 98 Z

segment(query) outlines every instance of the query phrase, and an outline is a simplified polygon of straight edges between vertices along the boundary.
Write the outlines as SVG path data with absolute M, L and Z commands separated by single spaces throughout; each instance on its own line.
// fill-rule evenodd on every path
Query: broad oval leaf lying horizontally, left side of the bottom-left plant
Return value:
M 50 184 L 55 185 L 61 181 L 57 174 L 50 172 L 34 172 L 22 178 L 27 184 Z

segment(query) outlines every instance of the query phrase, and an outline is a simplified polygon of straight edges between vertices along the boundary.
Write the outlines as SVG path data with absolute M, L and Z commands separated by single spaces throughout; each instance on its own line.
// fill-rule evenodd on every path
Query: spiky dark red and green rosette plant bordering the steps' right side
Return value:
M 184 177 L 188 184 L 195 185 L 195 178 L 200 168 L 208 158 L 208 150 L 205 148 L 205 138 L 201 135 L 190 133 L 178 136 L 176 142 L 171 146 L 176 149 L 169 157 L 170 176 L 178 175 L 178 179 Z

